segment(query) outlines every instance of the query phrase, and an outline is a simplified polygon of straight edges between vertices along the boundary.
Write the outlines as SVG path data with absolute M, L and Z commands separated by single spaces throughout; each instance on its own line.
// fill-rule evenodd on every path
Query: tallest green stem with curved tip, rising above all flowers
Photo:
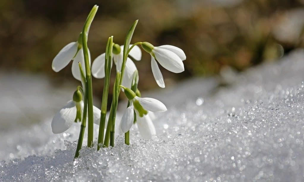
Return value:
M 89 61 L 89 53 L 88 53 L 88 32 L 92 21 L 97 12 L 98 6 L 95 5 L 91 12 L 88 15 L 87 20 L 85 21 L 85 25 L 82 29 L 82 50 L 85 58 L 85 74 L 87 80 L 87 100 L 88 100 L 88 147 L 91 147 L 93 144 L 93 132 L 94 132 L 94 121 L 93 121 L 93 91 L 92 91 L 92 75 Z

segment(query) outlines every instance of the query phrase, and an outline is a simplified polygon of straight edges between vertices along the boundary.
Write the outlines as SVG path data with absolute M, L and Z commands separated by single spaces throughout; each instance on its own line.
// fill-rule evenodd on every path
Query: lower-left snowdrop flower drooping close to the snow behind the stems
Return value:
M 84 103 L 79 90 L 74 92 L 73 100 L 61 108 L 52 120 L 52 131 L 54 134 L 59 134 L 69 129 L 73 122 L 80 122 L 83 113 Z M 99 125 L 100 110 L 93 106 L 94 123 Z

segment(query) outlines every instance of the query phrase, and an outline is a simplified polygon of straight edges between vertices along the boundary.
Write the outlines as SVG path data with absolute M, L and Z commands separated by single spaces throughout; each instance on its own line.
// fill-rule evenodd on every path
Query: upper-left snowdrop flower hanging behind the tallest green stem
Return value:
M 91 54 L 89 52 L 89 63 L 91 64 Z M 81 34 L 78 37 L 77 42 L 71 42 L 64 46 L 59 53 L 55 56 L 52 62 L 52 69 L 56 72 L 62 70 L 66 67 L 70 61 L 73 60 L 72 63 L 72 74 L 74 78 L 81 81 L 80 72 L 78 62 L 81 63 L 82 68 L 85 68 L 85 58 L 83 55 L 82 50 L 82 43 L 81 43 Z M 85 69 L 84 69 L 85 73 Z

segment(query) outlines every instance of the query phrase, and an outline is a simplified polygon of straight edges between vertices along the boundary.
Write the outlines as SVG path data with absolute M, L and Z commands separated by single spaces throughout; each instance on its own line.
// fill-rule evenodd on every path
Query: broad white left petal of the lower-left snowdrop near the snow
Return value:
M 59 134 L 71 127 L 76 118 L 76 106 L 74 101 L 69 101 L 66 106 L 61 108 L 52 120 L 52 131 Z

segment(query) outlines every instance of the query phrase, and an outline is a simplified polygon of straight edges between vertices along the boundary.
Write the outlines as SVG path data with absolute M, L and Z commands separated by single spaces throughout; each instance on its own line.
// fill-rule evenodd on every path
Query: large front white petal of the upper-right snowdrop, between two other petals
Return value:
M 167 70 L 174 73 L 180 73 L 185 70 L 183 61 L 174 52 L 154 47 L 153 53 L 159 64 Z

